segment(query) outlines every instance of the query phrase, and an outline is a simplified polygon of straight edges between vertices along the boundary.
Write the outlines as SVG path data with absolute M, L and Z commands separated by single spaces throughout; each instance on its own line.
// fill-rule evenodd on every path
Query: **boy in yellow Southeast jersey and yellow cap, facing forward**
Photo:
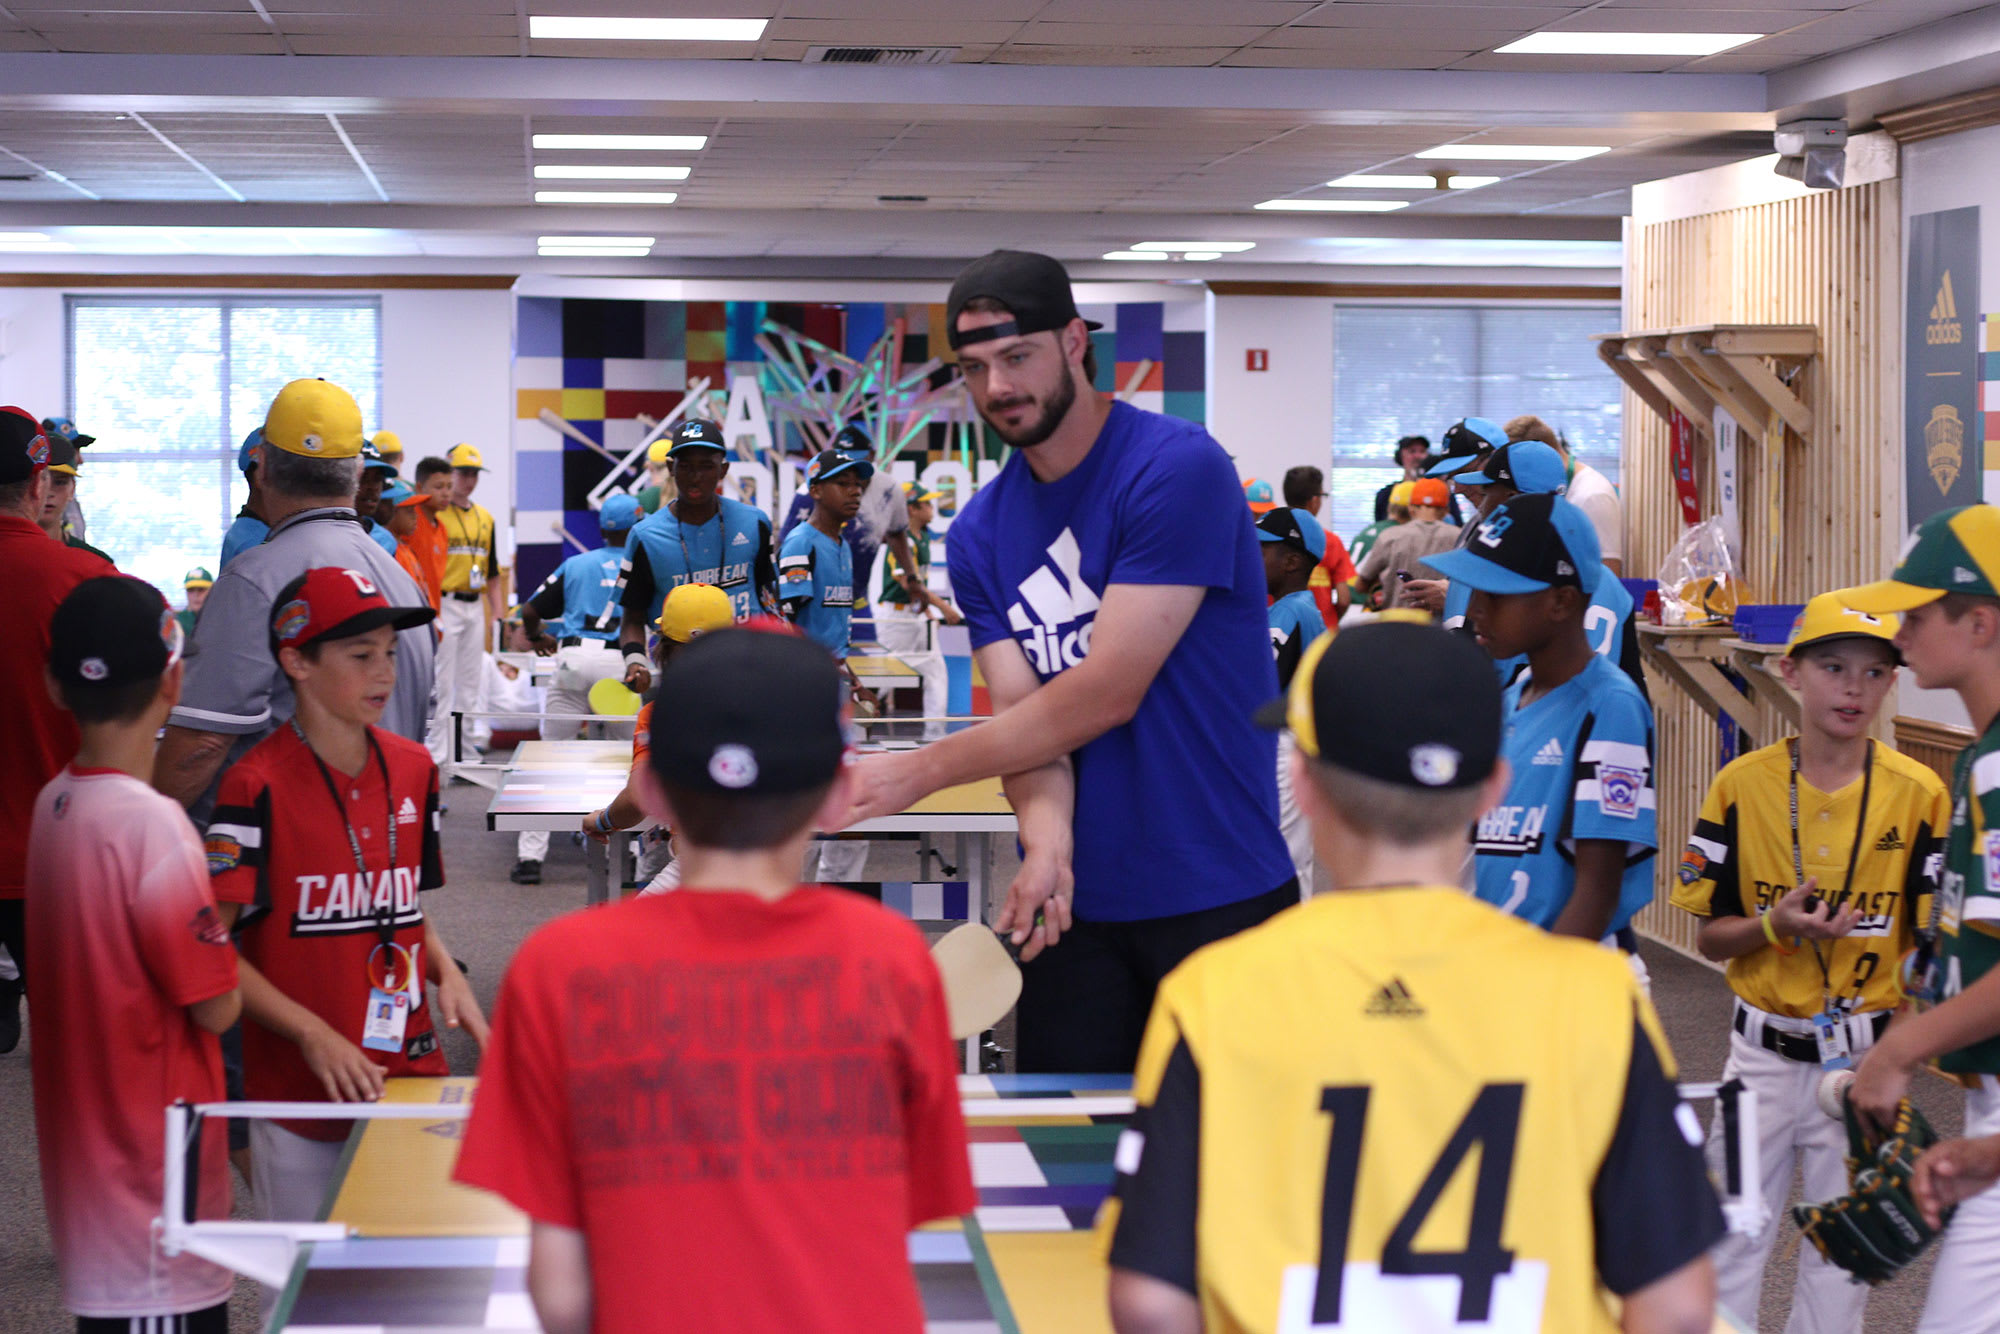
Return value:
M 1764 1262 L 1798 1158 L 1808 1200 L 1848 1188 L 1848 1136 L 1818 1104 L 1902 1002 L 1898 968 L 1930 920 L 1930 870 L 1950 820 L 1944 784 L 1868 736 L 1900 656 L 1894 616 L 1822 592 L 1778 662 L 1800 696 L 1798 736 L 1752 750 L 1708 788 L 1680 858 L 1674 906 L 1704 918 L 1698 948 L 1728 960 L 1736 1016 L 1724 1080 L 1758 1106 L 1758 1164 L 1770 1218 L 1716 1246 L 1722 1306 L 1758 1310 Z M 1806 948 L 1800 948 L 1800 946 Z M 1708 1164 L 1724 1170 L 1722 1114 Z M 1858 1334 L 1868 1288 L 1812 1246 L 1798 1252 L 1790 1334 Z

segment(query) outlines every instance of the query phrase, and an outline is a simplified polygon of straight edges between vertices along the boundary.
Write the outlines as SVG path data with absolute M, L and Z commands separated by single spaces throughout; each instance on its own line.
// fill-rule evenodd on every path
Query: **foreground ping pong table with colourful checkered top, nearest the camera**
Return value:
M 476 1080 L 390 1080 L 436 1120 L 356 1122 L 322 1212 L 342 1240 L 302 1242 L 272 1312 L 282 1334 L 472 1334 L 540 1328 L 528 1224 L 452 1182 Z M 1090 1224 L 1132 1112 L 1124 1076 L 962 1076 L 980 1206 L 910 1234 L 932 1334 L 1110 1334 Z M 670 1258 L 662 1258 L 668 1262 Z

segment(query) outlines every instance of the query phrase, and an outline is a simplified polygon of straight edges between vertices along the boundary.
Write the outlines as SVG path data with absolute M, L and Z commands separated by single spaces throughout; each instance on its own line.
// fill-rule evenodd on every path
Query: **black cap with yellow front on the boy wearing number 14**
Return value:
M 1382 708 L 1382 700 L 1424 700 Z M 1314 640 L 1286 694 L 1258 710 L 1306 758 L 1402 788 L 1486 782 L 1500 760 L 1500 678 L 1464 634 L 1376 620 Z M 1322 728 L 1320 722 L 1328 726 Z

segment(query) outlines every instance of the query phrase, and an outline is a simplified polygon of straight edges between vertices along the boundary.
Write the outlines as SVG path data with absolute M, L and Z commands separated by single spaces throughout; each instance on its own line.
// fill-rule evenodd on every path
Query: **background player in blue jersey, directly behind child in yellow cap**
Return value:
M 722 428 L 690 418 L 674 426 L 668 440 L 666 466 L 680 494 L 632 528 L 620 574 L 624 618 L 618 652 L 626 664 L 624 680 L 634 690 L 652 684 L 646 630 L 660 620 L 660 606 L 674 588 L 714 584 L 730 594 L 736 620 L 778 610 L 770 518 L 754 504 L 722 494 L 722 480 L 730 474 Z

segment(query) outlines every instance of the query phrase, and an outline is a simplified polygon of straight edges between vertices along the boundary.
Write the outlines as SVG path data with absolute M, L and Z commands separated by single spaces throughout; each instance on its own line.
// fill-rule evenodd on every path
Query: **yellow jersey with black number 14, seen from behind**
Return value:
M 1100 1230 L 1210 1334 L 1610 1332 L 1722 1234 L 1672 1070 L 1622 954 L 1324 894 L 1162 982 Z

